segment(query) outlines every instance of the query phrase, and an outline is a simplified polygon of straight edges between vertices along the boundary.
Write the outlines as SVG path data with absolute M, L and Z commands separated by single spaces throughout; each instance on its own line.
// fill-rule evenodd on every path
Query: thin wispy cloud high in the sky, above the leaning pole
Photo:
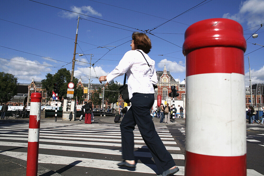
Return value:
M 91 6 L 82 6 L 82 7 L 72 6 L 71 11 L 73 12 L 61 11 L 59 13 L 59 16 L 63 18 L 76 18 L 79 15 L 78 13 L 89 15 L 89 16 L 99 16 L 99 17 L 102 16 L 101 13 L 97 12 Z M 77 12 L 77 13 L 74 13 L 74 12 Z

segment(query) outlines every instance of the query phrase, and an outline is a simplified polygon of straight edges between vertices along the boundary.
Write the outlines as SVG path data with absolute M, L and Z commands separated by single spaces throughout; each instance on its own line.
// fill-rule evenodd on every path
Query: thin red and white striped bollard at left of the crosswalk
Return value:
M 30 96 L 29 139 L 27 144 L 27 176 L 37 176 L 39 158 L 39 128 L 41 111 L 41 93 Z

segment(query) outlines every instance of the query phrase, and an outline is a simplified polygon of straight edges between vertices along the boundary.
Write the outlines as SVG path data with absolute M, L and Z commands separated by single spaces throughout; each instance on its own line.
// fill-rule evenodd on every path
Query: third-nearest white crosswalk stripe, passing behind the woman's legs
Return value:
M 23 137 L 1 137 L 1 139 L 11 139 L 11 140 L 27 140 Z M 54 140 L 54 139 L 40 139 L 39 142 L 56 142 L 56 143 L 66 143 L 66 144 L 83 144 L 83 145 L 99 145 L 99 146 L 114 146 L 121 147 L 121 144 L 116 143 L 105 143 L 105 142 L 85 142 L 85 141 L 69 141 L 69 140 Z M 144 148 L 147 149 L 146 145 L 134 145 L 134 148 Z M 165 146 L 167 150 L 181 150 L 179 147 Z

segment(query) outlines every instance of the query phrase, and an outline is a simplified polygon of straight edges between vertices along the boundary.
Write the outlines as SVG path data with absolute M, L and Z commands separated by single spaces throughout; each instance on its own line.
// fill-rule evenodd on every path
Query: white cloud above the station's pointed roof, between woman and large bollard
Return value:
M 177 63 L 167 59 L 162 59 L 157 65 L 158 68 L 164 68 L 164 63 L 166 64 L 166 69 L 170 70 L 171 73 L 181 73 L 185 72 L 185 65 L 183 62 Z

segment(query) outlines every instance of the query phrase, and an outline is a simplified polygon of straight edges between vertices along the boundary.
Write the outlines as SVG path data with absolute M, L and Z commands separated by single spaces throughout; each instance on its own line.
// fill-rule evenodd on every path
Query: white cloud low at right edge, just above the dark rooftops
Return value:
M 259 70 L 250 70 L 251 83 L 264 83 L 264 65 Z M 245 73 L 245 80 L 249 80 L 249 72 Z M 246 82 L 246 87 L 248 87 L 249 82 Z

